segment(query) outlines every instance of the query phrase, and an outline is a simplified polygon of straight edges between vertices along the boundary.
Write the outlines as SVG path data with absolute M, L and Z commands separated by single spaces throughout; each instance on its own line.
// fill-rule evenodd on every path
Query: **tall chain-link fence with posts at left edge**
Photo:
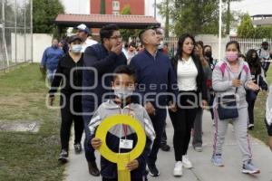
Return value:
M 33 60 L 32 0 L 0 0 L 0 70 Z

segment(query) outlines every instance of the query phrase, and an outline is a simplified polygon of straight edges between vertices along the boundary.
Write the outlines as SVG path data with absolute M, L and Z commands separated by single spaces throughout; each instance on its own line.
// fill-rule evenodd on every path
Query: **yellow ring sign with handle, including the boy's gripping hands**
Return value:
M 129 153 L 114 153 L 105 144 L 108 130 L 117 124 L 130 126 L 137 134 L 137 144 Z M 94 146 L 93 148 L 98 148 L 102 157 L 105 157 L 112 163 L 117 163 L 118 181 L 130 181 L 130 171 L 139 167 L 139 162 L 136 158 L 141 156 L 145 147 L 145 142 L 146 135 L 138 120 L 133 119 L 128 115 L 114 115 L 102 121 L 101 125 L 96 130 L 95 138 L 92 138 L 92 147 Z M 130 142 L 123 144 L 128 144 L 128 147 L 131 145 Z

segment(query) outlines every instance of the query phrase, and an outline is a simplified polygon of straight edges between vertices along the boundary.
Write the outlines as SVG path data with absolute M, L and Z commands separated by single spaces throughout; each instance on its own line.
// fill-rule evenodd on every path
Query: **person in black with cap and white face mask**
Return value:
M 82 80 L 83 80 L 83 53 L 82 39 L 76 35 L 70 37 L 69 52 L 60 60 L 51 89 L 49 90 L 49 103 L 53 105 L 54 93 L 61 89 L 61 143 L 62 149 L 59 160 L 67 162 L 69 152 L 69 138 L 72 124 L 74 124 L 74 151 L 82 152 L 81 140 L 83 136 L 82 117 Z

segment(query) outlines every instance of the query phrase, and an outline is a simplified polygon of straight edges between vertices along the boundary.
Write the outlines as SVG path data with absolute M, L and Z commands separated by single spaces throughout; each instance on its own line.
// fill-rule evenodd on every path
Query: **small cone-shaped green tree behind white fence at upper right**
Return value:
M 238 37 L 239 38 L 253 38 L 255 30 L 252 24 L 252 20 L 249 14 L 244 14 L 242 17 L 241 24 L 238 26 Z

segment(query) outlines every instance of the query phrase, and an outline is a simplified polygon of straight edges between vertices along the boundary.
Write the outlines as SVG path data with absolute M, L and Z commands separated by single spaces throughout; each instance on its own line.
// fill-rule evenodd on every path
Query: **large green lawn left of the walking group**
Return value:
M 59 181 L 64 167 L 59 154 L 59 110 L 45 106 L 46 87 L 38 64 L 0 74 L 0 119 L 34 120 L 40 131 L 0 132 L 0 180 Z

